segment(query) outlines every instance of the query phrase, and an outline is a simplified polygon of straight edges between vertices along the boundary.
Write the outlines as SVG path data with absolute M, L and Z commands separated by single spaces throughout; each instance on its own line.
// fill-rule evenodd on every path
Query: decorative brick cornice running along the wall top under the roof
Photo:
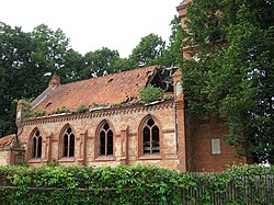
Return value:
M 92 111 L 89 113 L 50 115 L 39 118 L 31 118 L 22 121 L 21 123 L 22 126 L 25 126 L 25 125 L 48 124 L 48 123 L 67 122 L 67 121 L 78 121 L 78 119 L 94 118 L 94 117 L 105 117 L 105 116 L 121 115 L 127 113 L 138 113 L 144 111 L 172 109 L 173 104 L 174 104 L 173 101 L 164 101 L 153 105 L 139 104 L 139 105 L 128 105 L 121 107 L 106 107 L 98 111 Z

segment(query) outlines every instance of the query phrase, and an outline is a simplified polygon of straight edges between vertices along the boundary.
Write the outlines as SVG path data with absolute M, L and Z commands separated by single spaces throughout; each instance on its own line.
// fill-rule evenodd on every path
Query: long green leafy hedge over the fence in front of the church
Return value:
M 216 197 L 220 204 L 270 204 L 273 178 L 272 167 L 260 166 L 214 174 L 141 166 L 2 166 L 0 204 L 214 204 Z

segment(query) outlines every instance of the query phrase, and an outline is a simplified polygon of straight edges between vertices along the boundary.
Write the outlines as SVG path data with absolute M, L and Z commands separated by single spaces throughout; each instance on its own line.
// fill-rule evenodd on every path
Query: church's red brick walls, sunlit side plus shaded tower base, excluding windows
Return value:
M 140 163 L 176 169 L 183 172 L 213 172 L 224 171 L 228 164 L 247 162 L 246 158 L 236 158 L 235 149 L 226 145 L 225 141 L 220 144 L 220 155 L 212 155 L 212 138 L 222 138 L 226 132 L 216 119 L 199 122 L 196 125 L 193 123 L 194 119 L 183 125 L 182 121 L 178 121 L 176 130 L 174 106 L 182 109 L 183 104 L 174 105 L 172 102 L 164 102 L 151 106 L 101 111 L 93 115 L 79 114 L 28 121 L 23 123 L 23 133 L 19 136 L 20 147 L 25 148 L 26 162 L 31 166 L 41 166 L 56 160 L 64 166 L 115 167 L 117 164 L 134 166 Z M 182 117 L 181 109 L 179 110 L 180 115 L 176 111 L 178 117 Z M 139 128 L 148 115 L 157 121 L 160 128 L 160 156 L 144 157 L 140 155 Z M 190 119 L 190 116 L 185 117 L 186 121 Z M 101 158 L 95 155 L 96 128 L 104 119 L 110 122 L 114 132 L 115 155 L 113 158 Z M 76 134 L 75 158 L 61 158 L 59 155 L 59 136 L 67 124 Z M 193 125 L 195 126 L 191 128 Z M 43 136 L 41 159 L 31 159 L 30 137 L 35 128 L 38 128 Z M 186 129 L 186 135 L 184 129 Z M 128 150 L 126 150 L 127 148 Z

